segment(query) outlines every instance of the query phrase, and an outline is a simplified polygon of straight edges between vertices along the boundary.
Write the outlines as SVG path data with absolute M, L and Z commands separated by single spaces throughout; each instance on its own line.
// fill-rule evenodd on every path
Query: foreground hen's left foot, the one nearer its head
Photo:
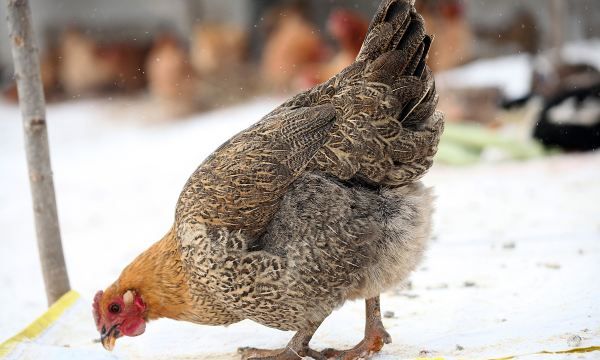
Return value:
M 318 326 L 317 326 L 318 327 Z M 256 349 L 251 347 L 239 348 L 242 360 L 298 360 L 309 356 L 315 360 L 326 360 L 320 352 L 308 346 L 317 327 L 307 331 L 298 331 L 284 349 Z

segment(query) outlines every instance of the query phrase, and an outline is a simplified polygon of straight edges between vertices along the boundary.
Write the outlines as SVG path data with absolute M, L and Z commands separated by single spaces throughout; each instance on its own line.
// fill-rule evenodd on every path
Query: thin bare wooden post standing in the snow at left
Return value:
M 33 39 L 29 2 L 6 0 L 6 10 L 23 116 L 35 229 L 46 296 L 50 305 L 69 291 L 70 286 L 56 212 L 40 62 Z

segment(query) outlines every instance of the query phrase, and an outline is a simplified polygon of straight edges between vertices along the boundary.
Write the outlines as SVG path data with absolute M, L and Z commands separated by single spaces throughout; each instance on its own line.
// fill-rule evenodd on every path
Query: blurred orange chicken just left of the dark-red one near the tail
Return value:
M 285 90 L 307 66 L 327 59 L 330 51 L 299 10 L 286 9 L 275 22 L 263 49 L 261 72 L 271 86 Z

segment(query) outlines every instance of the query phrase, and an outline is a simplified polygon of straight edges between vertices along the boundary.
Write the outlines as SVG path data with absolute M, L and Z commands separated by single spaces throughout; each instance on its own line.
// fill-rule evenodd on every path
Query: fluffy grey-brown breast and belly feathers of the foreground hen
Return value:
M 319 324 L 345 300 L 406 277 L 429 233 L 430 200 L 420 184 L 373 191 L 304 174 L 257 239 L 206 224 L 179 228 L 190 291 L 210 294 L 234 319 L 295 331 Z

